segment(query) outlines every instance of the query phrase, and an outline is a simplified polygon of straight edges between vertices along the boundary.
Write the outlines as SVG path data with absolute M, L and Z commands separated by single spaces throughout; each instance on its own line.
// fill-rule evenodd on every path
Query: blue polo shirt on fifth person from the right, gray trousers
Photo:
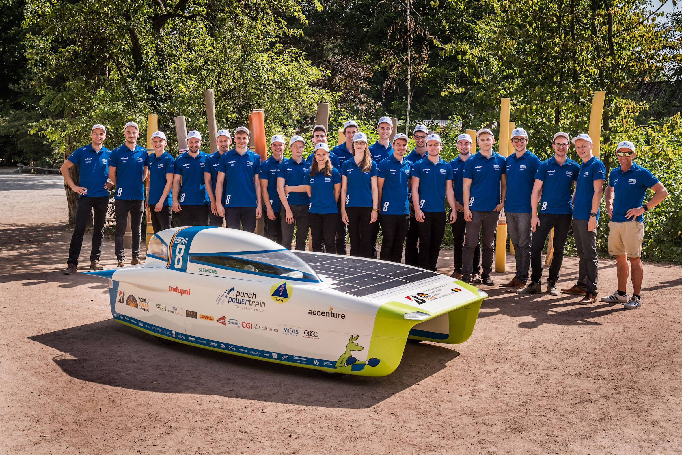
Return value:
M 500 203 L 500 180 L 505 157 L 492 151 L 490 158 L 481 152 L 466 160 L 462 178 L 471 179 L 469 210 L 493 211 Z

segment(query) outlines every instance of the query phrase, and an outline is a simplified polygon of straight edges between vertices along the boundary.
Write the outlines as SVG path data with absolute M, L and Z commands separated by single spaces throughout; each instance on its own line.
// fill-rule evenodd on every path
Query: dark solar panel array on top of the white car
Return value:
M 334 280 L 336 282 L 333 284 L 334 289 L 356 297 L 439 276 L 433 271 L 413 269 L 397 263 L 381 263 L 302 251 L 292 252 L 306 261 L 316 273 Z

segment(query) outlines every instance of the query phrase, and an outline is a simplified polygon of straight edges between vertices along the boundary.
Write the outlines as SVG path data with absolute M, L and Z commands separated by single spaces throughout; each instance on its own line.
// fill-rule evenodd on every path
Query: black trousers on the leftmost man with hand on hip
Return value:
M 104 222 L 106 220 L 106 209 L 109 205 L 109 196 L 80 196 L 76 205 L 76 226 L 71 236 L 69 246 L 69 259 L 67 264 L 78 265 L 80 248 L 83 247 L 83 234 L 87 226 L 90 212 L 93 211 L 93 232 L 92 246 L 90 248 L 90 262 L 99 261 L 102 256 L 102 242 L 104 241 Z M 125 227 L 125 226 L 124 226 Z

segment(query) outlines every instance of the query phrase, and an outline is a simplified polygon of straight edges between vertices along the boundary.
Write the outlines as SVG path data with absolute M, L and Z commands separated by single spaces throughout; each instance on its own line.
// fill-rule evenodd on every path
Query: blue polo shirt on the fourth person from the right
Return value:
M 503 174 L 507 174 L 507 199 L 505 211 L 518 214 L 531 213 L 531 192 L 535 185 L 535 173 L 540 166 L 540 159 L 530 150 L 516 157 L 511 153 L 505 160 Z

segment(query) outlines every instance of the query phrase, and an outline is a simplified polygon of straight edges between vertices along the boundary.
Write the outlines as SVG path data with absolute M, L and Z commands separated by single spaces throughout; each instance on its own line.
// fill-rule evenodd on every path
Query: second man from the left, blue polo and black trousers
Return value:
M 125 123 L 123 128 L 125 143 L 111 151 L 109 156 L 109 179 L 116 186 L 114 207 L 116 211 L 116 231 L 114 250 L 117 267 L 125 265 L 123 235 L 130 214 L 132 230 L 132 259 L 130 265 L 140 262 L 140 224 L 145 211 L 145 185 L 147 178 L 147 149 L 137 145 L 140 127 L 134 121 Z

